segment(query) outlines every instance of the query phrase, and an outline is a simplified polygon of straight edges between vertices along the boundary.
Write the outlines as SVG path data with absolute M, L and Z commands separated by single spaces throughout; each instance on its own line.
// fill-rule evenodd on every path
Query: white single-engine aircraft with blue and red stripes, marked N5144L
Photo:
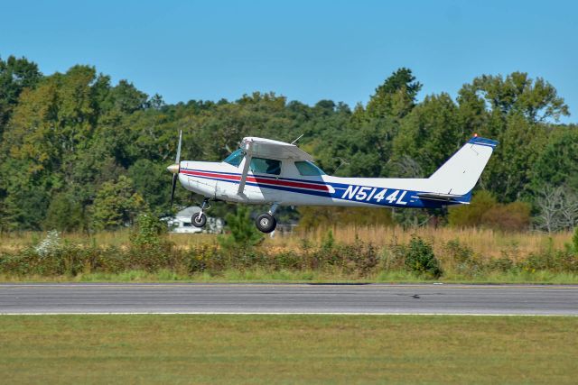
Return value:
M 442 207 L 469 204 L 471 190 L 498 142 L 474 135 L 429 178 L 341 178 L 325 174 L 294 143 L 246 137 L 225 160 L 181 160 L 182 132 L 172 172 L 171 205 L 177 179 L 204 197 L 192 225 L 207 222 L 209 201 L 270 205 L 256 227 L 275 230 L 278 206 Z

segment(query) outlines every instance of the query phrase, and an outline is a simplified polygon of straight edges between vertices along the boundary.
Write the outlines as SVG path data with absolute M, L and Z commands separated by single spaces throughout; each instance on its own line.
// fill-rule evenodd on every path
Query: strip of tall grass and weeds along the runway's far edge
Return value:
M 52 235 L 1 235 L 0 280 L 578 281 L 571 233 L 335 226 L 233 248 L 211 234 Z

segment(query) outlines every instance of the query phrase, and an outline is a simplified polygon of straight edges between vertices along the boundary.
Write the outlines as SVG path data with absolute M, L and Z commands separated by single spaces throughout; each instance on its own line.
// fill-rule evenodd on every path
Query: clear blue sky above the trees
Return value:
M 397 68 L 420 98 L 481 74 L 551 82 L 578 122 L 578 3 L 572 1 L 12 1 L 0 56 L 45 74 L 81 63 L 168 103 L 274 91 L 367 103 Z

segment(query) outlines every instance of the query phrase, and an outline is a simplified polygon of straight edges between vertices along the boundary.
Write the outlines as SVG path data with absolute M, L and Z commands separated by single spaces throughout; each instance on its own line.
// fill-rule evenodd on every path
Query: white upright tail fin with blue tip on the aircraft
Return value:
M 432 192 L 463 197 L 462 203 L 470 201 L 481 172 L 486 167 L 492 151 L 498 142 L 474 136 L 452 158 L 443 163 L 428 179 Z

